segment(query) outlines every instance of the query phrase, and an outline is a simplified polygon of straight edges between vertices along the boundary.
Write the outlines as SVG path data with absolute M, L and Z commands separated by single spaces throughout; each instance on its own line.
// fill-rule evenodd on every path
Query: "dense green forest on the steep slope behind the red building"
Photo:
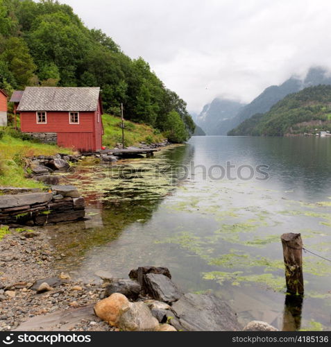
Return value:
M 194 132 L 186 103 L 151 71 L 130 59 L 72 8 L 54 0 L 0 0 L 0 88 L 100 86 L 104 110 L 143 122 L 183 142 Z

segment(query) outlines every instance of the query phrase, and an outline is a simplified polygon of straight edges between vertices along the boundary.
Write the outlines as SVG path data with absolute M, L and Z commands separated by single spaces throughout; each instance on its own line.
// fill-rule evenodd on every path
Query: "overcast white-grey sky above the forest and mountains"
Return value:
M 330 0 L 60 0 L 199 112 L 250 102 L 312 65 L 331 68 Z

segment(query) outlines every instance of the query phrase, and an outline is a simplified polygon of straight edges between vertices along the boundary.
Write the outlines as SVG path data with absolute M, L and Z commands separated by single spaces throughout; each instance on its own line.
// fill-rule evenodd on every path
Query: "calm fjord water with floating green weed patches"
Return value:
M 203 176 L 227 162 L 232 177 L 241 165 L 265 165 L 269 178 L 217 179 L 215 167 Z M 304 255 L 303 307 L 291 308 L 280 243 L 283 232 L 300 232 L 308 249 L 331 257 L 330 180 L 331 139 L 315 137 L 192 137 L 153 159 L 81 166 L 67 181 L 80 185 L 90 220 L 48 227 L 62 253 L 56 267 L 92 280 L 100 269 L 127 277 L 167 266 L 184 291 L 226 299 L 241 323 L 330 330 L 331 263 Z

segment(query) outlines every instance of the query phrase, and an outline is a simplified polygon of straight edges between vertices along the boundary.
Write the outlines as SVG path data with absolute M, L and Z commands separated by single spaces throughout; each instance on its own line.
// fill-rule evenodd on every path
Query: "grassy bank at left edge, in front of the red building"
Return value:
M 0 186 L 11 187 L 43 187 L 42 183 L 25 178 L 24 160 L 33 155 L 54 155 L 71 153 L 70 149 L 62 149 L 51 144 L 21 138 L 19 132 L 9 128 L 0 128 Z M 24 137 L 23 137 L 24 138 Z

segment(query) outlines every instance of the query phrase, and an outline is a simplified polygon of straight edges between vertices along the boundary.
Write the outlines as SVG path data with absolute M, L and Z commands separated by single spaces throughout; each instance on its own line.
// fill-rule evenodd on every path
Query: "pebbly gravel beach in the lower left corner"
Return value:
M 35 316 L 92 305 L 103 296 L 102 282 L 75 281 L 67 273 L 54 271 L 52 262 L 57 255 L 47 231 L 28 230 L 31 231 L 12 231 L 0 240 L 0 331 L 15 330 Z M 33 284 L 49 278 L 57 279 L 58 283 L 50 291 L 37 294 Z M 52 330 L 64 325 L 65 322 L 58 321 Z M 113 328 L 96 316 L 87 316 L 66 326 L 65 330 L 109 331 Z

